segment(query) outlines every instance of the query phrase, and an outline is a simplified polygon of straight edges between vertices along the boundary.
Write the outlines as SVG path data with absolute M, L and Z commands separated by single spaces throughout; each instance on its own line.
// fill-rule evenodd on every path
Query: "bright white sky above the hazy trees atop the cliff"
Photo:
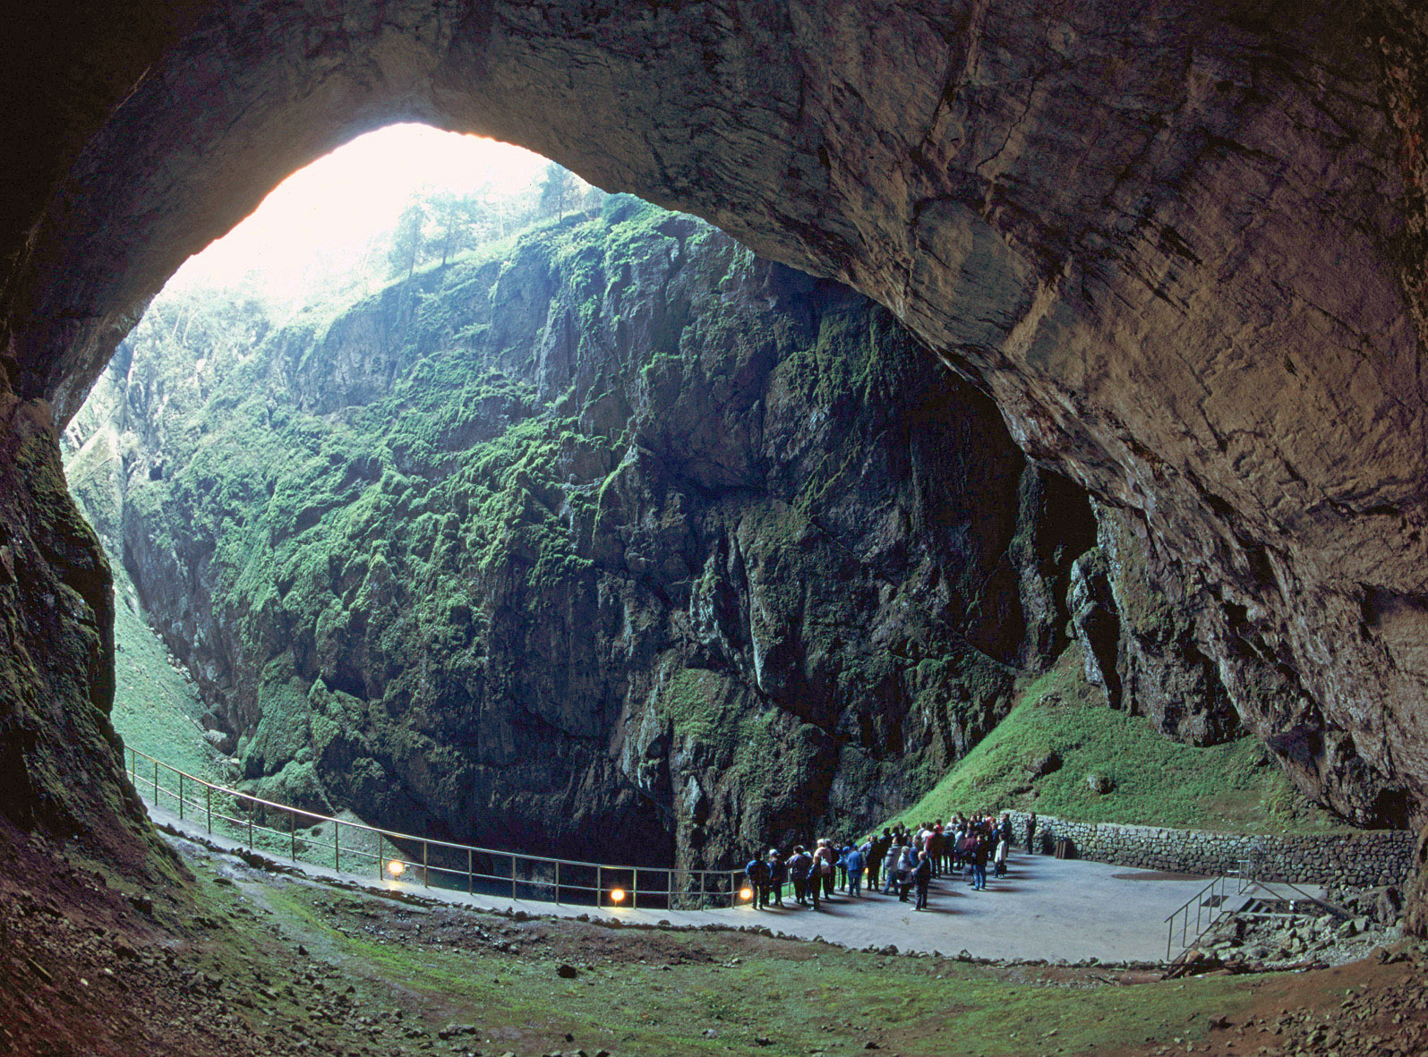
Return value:
M 307 280 L 360 260 L 373 236 L 396 226 L 413 193 L 464 194 L 490 184 L 496 194 L 517 194 L 545 164 L 508 143 L 424 124 L 388 126 L 293 173 L 169 281 L 236 286 L 247 277 L 270 296 L 297 299 Z

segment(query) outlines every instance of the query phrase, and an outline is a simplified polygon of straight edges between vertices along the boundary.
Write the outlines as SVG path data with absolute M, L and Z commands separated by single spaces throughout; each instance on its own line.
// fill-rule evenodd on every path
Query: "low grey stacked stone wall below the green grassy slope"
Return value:
M 1024 811 L 1011 811 L 1020 847 L 1027 844 L 1027 818 Z M 1255 836 L 1037 817 L 1037 851 L 1051 854 L 1062 837 L 1077 858 L 1098 863 L 1188 874 L 1227 874 L 1247 863 L 1255 880 L 1349 888 L 1404 884 L 1412 873 L 1415 841 L 1402 830 Z

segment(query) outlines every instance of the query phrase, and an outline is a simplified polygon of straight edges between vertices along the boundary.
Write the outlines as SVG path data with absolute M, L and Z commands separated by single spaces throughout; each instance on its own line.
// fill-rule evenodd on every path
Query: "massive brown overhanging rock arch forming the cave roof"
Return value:
M 1428 791 L 1425 400 L 1405 294 L 1424 267 L 1424 26 L 1397 0 L 1282 7 L 140 7 L 167 19 L 151 64 L 57 137 L 63 176 L 6 246 L 10 546 L 69 524 L 46 491 L 53 426 L 181 260 L 341 140 L 424 120 L 523 143 L 892 307 L 980 377 L 1032 457 L 1152 541 L 1301 784 L 1381 818 Z M 100 613 L 87 696 L 103 704 L 101 571 L 83 544 L 41 543 Z M 31 713 L 39 744 L 63 737 Z

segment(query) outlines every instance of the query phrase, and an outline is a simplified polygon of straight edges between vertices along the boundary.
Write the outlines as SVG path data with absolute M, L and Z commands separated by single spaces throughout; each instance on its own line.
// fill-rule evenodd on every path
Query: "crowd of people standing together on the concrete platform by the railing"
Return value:
M 1028 854 L 1035 831 L 1032 814 L 1027 823 Z M 988 866 L 994 877 L 1004 877 L 1011 841 L 1011 816 L 958 814 L 947 824 L 938 818 L 917 830 L 898 823 L 860 843 L 840 846 L 823 838 L 811 851 L 798 844 L 787 856 L 770 848 L 767 856 L 755 854 L 744 873 L 758 910 L 783 907 L 788 888 L 797 906 L 818 910 L 834 891 L 861 898 L 864 884 L 870 893 L 895 893 L 902 903 L 915 896 L 914 910 L 925 910 L 928 888 L 937 877 L 965 877 L 974 891 L 985 890 Z

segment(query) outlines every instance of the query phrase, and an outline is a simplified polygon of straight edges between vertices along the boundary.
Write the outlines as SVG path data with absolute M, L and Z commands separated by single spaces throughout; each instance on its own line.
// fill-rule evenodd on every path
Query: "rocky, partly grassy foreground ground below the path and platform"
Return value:
M 191 876 L 161 893 L 79 860 L 43 890 L 0 880 L 0 1053 L 1347 1056 L 1428 1041 L 1428 950 L 1402 941 L 1328 968 L 1161 981 L 474 914 L 176 847 Z M 33 878 L 41 863 L 23 866 Z

